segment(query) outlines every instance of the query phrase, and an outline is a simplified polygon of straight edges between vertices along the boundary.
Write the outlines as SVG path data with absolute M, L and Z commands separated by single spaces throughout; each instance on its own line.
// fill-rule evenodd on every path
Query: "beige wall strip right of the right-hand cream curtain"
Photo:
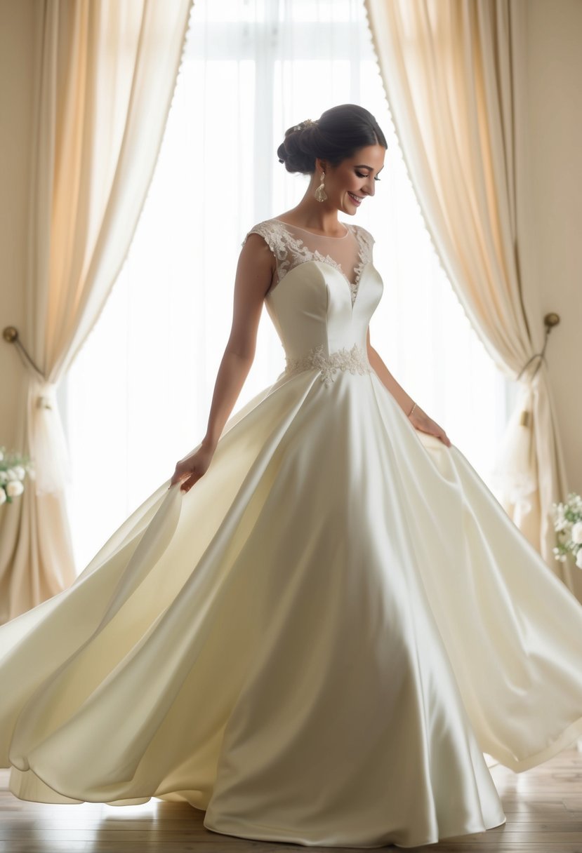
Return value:
M 568 485 L 582 494 L 582 2 L 529 0 L 533 228 L 542 314 Z

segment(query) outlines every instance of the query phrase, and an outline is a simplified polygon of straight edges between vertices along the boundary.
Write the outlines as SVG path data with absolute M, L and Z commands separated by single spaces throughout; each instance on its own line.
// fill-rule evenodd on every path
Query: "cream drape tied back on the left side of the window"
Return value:
M 20 514 L 3 514 L 0 622 L 73 582 L 55 391 L 96 322 L 147 194 L 192 0 L 44 0 L 26 261 L 19 446 L 34 461 Z M 99 448 L 95 448 L 99 453 Z M 105 474 L 104 474 L 105 475 Z M 13 507 L 16 510 L 16 505 Z

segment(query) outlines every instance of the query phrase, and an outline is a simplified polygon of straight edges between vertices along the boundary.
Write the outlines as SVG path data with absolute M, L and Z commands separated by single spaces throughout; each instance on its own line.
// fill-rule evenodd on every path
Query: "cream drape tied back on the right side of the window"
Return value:
M 544 344 L 528 196 L 527 3 L 365 0 L 365 6 L 436 250 L 487 351 L 517 379 Z M 522 411 L 529 413 L 527 425 Z M 552 554 L 551 504 L 566 498 L 567 478 L 550 374 L 538 358 L 521 375 L 497 469 L 504 508 L 582 601 L 579 571 Z

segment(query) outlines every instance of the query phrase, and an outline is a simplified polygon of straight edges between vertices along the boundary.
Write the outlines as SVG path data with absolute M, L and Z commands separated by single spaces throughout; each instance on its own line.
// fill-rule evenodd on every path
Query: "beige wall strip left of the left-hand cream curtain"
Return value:
M 0 333 L 23 328 L 37 0 L 0 0 Z M 13 446 L 24 368 L 0 338 L 0 445 Z M 22 450 L 22 448 L 15 448 Z

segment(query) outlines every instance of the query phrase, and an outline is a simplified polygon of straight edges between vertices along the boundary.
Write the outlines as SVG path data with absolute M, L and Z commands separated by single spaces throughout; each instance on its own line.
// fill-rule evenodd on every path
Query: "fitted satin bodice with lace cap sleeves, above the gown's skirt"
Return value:
M 316 354 L 321 363 L 335 357 L 341 366 L 342 352 L 352 354 L 352 364 L 354 359 L 367 363 L 368 324 L 383 285 L 372 265 L 370 232 L 342 224 L 343 237 L 315 235 L 278 219 L 267 219 L 247 234 L 263 237 L 276 260 L 265 307 L 288 365 L 308 364 Z

